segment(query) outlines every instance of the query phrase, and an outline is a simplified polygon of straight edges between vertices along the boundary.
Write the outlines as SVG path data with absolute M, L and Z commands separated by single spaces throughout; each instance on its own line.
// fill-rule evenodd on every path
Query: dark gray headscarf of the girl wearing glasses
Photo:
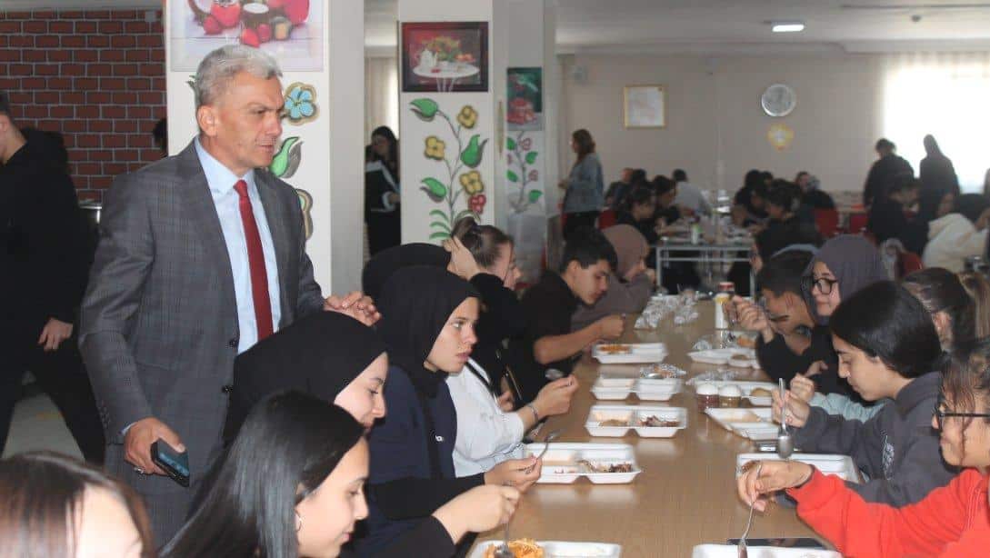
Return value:
M 823 244 L 808 264 L 806 277 L 811 276 L 817 261 L 829 266 L 829 271 L 836 276 L 841 300 L 851 297 L 867 285 L 890 279 L 883 260 L 880 259 L 880 252 L 869 240 L 857 234 L 841 234 Z M 819 324 L 828 324 L 828 317 L 818 316 L 810 285 L 810 281 L 805 284 L 808 308 Z

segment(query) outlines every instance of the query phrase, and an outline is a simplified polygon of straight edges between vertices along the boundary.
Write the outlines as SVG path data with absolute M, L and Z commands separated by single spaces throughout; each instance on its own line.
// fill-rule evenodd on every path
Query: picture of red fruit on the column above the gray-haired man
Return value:
M 323 70 L 326 2 L 282 0 L 167 2 L 171 71 L 196 71 L 208 52 L 247 45 L 278 60 L 282 71 Z

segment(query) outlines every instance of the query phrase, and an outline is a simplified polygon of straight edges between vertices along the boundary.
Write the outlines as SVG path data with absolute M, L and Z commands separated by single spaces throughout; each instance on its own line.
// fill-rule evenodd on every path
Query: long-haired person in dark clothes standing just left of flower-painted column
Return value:
M 371 133 L 364 160 L 364 223 L 368 252 L 376 254 L 402 241 L 399 189 L 399 140 L 387 126 Z

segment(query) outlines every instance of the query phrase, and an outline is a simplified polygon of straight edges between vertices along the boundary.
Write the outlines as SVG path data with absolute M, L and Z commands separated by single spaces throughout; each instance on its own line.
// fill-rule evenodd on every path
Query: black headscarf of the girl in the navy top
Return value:
M 446 373 L 427 370 L 423 363 L 450 314 L 470 297 L 480 299 L 470 283 L 439 267 L 406 267 L 385 282 L 378 300 L 378 332 L 388 345 L 391 363 L 427 397 L 437 395 Z

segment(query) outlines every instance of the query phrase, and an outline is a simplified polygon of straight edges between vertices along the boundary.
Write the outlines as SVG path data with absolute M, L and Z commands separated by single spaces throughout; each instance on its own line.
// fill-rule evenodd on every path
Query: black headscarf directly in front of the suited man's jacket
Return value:
M 275 392 L 297 390 L 333 403 L 385 351 L 374 329 L 337 312 L 280 329 L 235 359 L 224 439 L 233 440 L 251 407 Z

